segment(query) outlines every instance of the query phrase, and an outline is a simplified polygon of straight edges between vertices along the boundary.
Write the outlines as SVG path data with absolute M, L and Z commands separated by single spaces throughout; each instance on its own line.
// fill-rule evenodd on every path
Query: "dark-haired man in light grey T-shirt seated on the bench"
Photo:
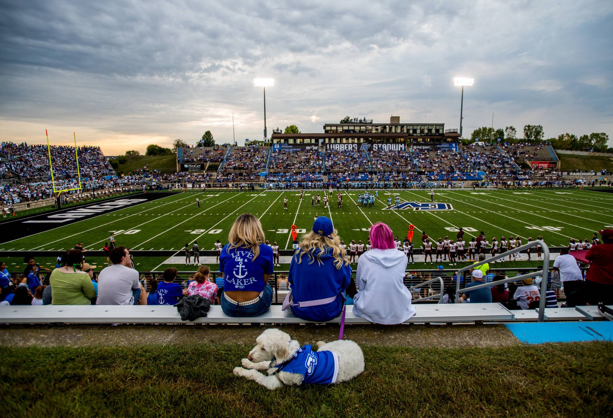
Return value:
M 113 248 L 110 252 L 110 259 L 113 265 L 104 267 L 98 275 L 96 305 L 147 305 L 147 294 L 139 282 L 139 272 L 132 269 L 128 249 L 126 247 Z M 87 278 L 91 285 L 89 275 Z M 53 289 L 53 303 L 55 304 L 55 288 Z

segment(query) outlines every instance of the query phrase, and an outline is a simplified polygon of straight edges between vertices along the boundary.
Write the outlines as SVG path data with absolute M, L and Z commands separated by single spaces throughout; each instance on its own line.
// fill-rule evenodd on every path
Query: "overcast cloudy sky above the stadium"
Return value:
M 0 140 L 261 139 L 344 116 L 613 137 L 613 2 L 0 2 Z M 613 140 L 609 141 L 609 146 Z

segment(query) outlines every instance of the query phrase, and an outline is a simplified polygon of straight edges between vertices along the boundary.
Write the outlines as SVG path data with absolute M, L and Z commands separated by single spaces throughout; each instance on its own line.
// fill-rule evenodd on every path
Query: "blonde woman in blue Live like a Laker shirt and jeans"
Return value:
M 251 214 L 240 215 L 230 228 L 229 243 L 219 256 L 219 272 L 224 278 L 221 310 L 226 315 L 257 316 L 270 308 L 268 278 L 273 258 L 265 239 L 262 224 Z

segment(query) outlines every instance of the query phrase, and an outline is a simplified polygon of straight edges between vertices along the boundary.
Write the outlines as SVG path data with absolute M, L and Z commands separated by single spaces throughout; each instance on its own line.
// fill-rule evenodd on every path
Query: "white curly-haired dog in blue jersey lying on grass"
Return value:
M 310 345 L 300 347 L 288 334 L 272 328 L 262 332 L 256 342 L 242 361 L 244 368 L 235 367 L 233 373 L 270 390 L 284 384 L 346 382 L 364 371 L 364 354 L 354 341 L 319 341 L 318 350 L 312 351 Z M 266 370 L 268 376 L 257 370 Z

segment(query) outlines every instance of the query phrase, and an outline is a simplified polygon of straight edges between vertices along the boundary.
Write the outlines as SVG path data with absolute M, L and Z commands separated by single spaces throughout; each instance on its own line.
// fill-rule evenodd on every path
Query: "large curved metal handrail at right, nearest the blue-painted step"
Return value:
M 543 322 L 545 320 L 545 305 L 546 305 L 546 297 L 547 297 L 547 278 L 549 277 L 549 247 L 547 247 L 547 244 L 545 244 L 545 242 L 543 242 L 540 239 L 537 239 L 536 241 L 528 242 L 528 244 L 524 244 L 521 247 L 514 248 L 502 254 L 493 256 L 491 258 L 484 259 L 484 261 L 479 261 L 479 263 L 474 263 L 474 264 L 471 264 L 470 266 L 462 267 L 461 269 L 459 269 L 457 272 L 458 280 L 457 280 L 457 283 L 455 284 L 455 299 L 457 300 L 457 303 L 461 303 L 460 302 L 460 274 L 462 274 L 462 277 L 463 277 L 463 272 L 470 271 L 470 269 L 474 269 L 474 267 L 481 266 L 482 264 L 489 263 L 490 261 L 496 261 L 497 259 L 501 259 L 513 253 L 517 253 L 522 250 L 526 250 L 527 248 L 536 247 L 537 245 L 541 245 L 541 247 L 543 247 L 543 268 L 540 271 L 522 274 L 516 277 L 505 278 L 503 280 L 497 280 L 496 282 L 483 283 L 482 285 L 471 286 L 469 291 L 483 289 L 483 288 L 491 288 L 492 286 L 501 285 L 503 283 L 517 282 L 517 280 L 523 280 L 524 278 L 536 277 L 540 275 L 541 277 L 543 277 L 543 280 L 541 280 L 541 299 L 539 300 L 538 321 Z

